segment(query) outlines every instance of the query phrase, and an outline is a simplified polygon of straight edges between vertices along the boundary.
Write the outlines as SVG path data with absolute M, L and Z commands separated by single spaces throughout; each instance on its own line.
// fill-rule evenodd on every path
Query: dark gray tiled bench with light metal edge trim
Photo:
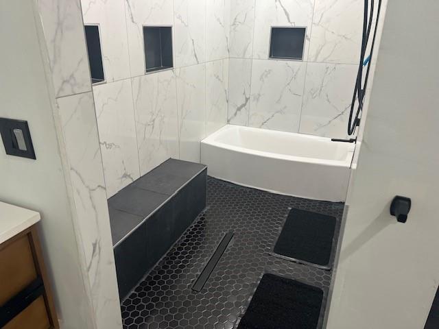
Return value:
M 108 199 L 121 300 L 206 208 L 206 169 L 169 159 Z

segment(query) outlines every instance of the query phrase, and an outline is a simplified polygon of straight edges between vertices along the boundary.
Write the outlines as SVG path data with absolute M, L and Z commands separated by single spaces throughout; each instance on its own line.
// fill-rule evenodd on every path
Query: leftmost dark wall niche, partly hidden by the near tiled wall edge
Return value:
M 91 83 L 99 84 L 105 82 L 99 26 L 85 25 L 84 29 L 88 50 L 88 62 L 90 63 Z

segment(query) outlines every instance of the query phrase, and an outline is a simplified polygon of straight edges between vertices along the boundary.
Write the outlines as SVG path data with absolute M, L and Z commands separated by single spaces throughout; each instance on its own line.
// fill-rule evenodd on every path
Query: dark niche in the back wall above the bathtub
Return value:
M 306 27 L 272 27 L 270 58 L 302 60 Z

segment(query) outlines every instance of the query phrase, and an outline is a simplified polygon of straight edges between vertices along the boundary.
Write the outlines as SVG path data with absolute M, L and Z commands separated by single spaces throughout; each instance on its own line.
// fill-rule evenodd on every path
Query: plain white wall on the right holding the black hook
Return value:
M 422 329 L 438 289 L 438 11 L 388 4 L 329 329 Z M 407 223 L 390 216 L 394 195 L 412 198 Z

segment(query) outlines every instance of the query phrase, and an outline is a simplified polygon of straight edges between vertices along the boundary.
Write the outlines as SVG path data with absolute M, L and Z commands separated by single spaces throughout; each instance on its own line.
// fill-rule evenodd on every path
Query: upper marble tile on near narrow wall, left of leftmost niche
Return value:
M 56 97 L 91 90 L 79 0 L 38 0 Z

